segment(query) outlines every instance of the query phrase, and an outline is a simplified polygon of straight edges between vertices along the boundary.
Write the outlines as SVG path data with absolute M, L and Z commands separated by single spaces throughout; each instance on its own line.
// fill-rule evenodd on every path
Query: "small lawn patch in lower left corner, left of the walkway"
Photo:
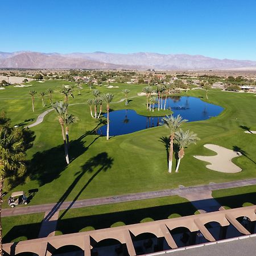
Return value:
M 3 243 L 38 238 L 44 213 L 2 217 Z

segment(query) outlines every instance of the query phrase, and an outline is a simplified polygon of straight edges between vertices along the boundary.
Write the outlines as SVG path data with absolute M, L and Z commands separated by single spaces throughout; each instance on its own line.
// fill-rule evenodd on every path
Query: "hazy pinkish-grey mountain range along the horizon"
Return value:
M 229 69 L 256 68 L 256 61 L 214 59 L 202 55 L 138 53 L 0 52 L 0 68 L 63 69 Z

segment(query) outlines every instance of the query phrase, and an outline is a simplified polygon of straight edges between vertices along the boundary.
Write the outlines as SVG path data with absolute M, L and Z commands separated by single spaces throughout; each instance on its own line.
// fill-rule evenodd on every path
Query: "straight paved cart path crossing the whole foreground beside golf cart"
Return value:
M 15 207 L 2 209 L 1 216 L 15 216 L 21 214 L 30 214 L 30 213 L 40 213 L 48 212 L 48 219 L 51 218 L 58 210 L 70 209 L 70 208 L 82 208 L 89 207 L 93 205 L 103 205 L 103 204 L 113 204 L 121 203 L 128 201 L 136 201 L 143 199 L 152 199 L 156 197 L 163 196 L 174 196 L 181 195 L 181 193 L 192 194 L 192 193 L 204 193 L 206 191 L 213 191 L 217 189 L 224 188 L 237 188 L 244 187 L 247 185 L 256 185 L 256 179 L 246 179 L 238 181 L 230 181 L 226 183 L 210 183 L 208 185 L 198 185 L 195 187 L 180 187 L 175 189 L 165 189 L 160 191 L 150 191 L 142 193 L 132 193 L 127 195 L 118 195 L 118 196 L 109 196 L 109 197 L 100 197 L 94 199 L 85 199 L 79 201 L 64 201 L 53 204 L 42 204 L 42 205 L 33 205 L 26 207 Z

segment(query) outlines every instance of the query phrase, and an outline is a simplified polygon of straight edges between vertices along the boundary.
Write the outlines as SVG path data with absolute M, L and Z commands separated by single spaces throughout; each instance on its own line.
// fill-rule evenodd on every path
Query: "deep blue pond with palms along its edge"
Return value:
M 158 112 L 157 108 L 158 105 L 156 104 L 154 110 L 156 113 Z M 168 97 L 166 100 L 166 109 L 171 109 L 172 112 L 174 112 L 173 115 L 175 117 L 180 114 L 181 117 L 183 117 L 183 119 L 187 119 L 188 122 L 216 117 L 223 110 L 221 106 L 201 101 L 200 98 L 185 96 Z M 106 114 L 104 114 L 104 117 L 106 117 Z M 110 136 L 134 133 L 134 131 L 159 126 L 162 122 L 162 117 L 145 117 L 137 114 L 135 110 L 130 109 L 115 110 L 110 112 L 109 119 Z M 97 130 L 97 134 L 106 135 L 106 125 L 100 127 L 100 129 Z

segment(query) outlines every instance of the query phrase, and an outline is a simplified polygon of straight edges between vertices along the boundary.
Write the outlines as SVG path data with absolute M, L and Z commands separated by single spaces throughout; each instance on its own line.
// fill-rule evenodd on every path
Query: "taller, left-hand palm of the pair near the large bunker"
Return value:
M 175 132 L 180 128 L 182 123 L 187 122 L 188 120 L 182 119 L 180 115 L 174 117 L 163 117 L 163 125 L 170 130 L 170 153 L 169 153 L 169 163 L 168 163 L 168 172 L 172 172 L 172 155 L 174 154 L 174 138 Z

